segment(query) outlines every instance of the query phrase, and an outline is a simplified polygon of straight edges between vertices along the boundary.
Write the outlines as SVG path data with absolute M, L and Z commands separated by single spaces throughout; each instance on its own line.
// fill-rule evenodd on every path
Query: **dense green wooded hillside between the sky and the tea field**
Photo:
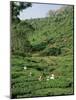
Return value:
M 62 7 L 54 13 L 54 17 L 50 15 L 13 24 L 12 50 L 36 52 L 39 56 L 72 54 L 73 7 Z

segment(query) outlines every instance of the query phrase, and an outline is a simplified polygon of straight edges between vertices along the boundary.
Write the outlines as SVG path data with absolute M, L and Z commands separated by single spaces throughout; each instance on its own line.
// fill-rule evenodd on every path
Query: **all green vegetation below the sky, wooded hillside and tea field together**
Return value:
M 73 16 L 66 6 L 12 23 L 11 98 L 73 94 Z

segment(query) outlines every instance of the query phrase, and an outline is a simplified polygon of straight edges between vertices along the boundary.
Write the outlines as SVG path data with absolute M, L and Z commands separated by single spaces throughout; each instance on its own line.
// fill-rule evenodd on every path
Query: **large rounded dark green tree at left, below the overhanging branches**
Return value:
M 11 50 L 12 53 L 27 53 L 31 51 L 31 44 L 28 40 L 28 35 L 33 33 L 34 29 L 26 21 L 13 23 L 11 26 Z M 28 34 L 29 33 L 29 34 Z

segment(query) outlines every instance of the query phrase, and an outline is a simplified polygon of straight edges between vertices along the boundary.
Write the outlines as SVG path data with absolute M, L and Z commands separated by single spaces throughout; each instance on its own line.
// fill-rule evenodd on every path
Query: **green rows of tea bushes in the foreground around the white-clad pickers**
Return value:
M 72 94 L 72 63 L 72 57 L 68 56 L 23 58 L 13 56 L 11 60 L 12 98 Z M 24 69 L 25 66 L 26 69 Z M 51 74 L 54 74 L 55 78 L 47 80 Z

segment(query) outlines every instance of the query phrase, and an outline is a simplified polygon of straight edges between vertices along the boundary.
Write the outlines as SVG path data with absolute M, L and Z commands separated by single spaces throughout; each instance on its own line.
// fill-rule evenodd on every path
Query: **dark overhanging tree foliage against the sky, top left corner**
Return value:
M 31 3 L 27 2 L 18 2 L 18 1 L 11 1 L 11 20 L 20 20 L 18 15 L 20 15 L 20 11 L 26 9 L 27 7 L 31 7 Z

